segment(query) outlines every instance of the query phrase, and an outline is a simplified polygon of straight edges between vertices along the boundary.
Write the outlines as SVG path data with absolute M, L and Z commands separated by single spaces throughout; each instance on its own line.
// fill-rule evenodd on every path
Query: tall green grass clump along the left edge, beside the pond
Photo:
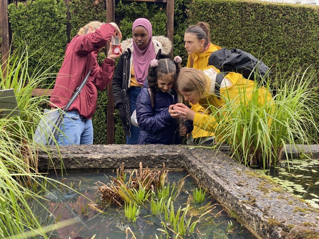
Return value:
M 41 186 L 38 180 L 45 179 L 37 171 L 37 152 L 39 149 L 48 152 L 45 146 L 33 144 L 34 130 L 43 114 L 41 106 L 47 104 L 48 99 L 32 97 L 31 93 L 54 75 L 48 73 L 49 69 L 43 69 L 41 63 L 29 74 L 30 55 L 26 49 L 9 53 L 8 57 L 4 72 L 0 68 L 0 90 L 14 89 L 20 116 L 0 119 L 0 237 L 35 238 L 42 235 L 48 238 L 45 231 L 54 227 L 41 227 L 28 206 L 27 198 L 39 199 L 30 186 Z

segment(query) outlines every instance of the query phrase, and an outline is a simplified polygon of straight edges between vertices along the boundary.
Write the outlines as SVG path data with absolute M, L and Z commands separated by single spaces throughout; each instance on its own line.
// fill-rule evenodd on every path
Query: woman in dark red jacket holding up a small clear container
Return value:
M 92 69 L 85 86 L 67 112 L 63 112 L 57 142 L 60 145 L 92 144 L 92 116 L 96 110 L 97 89 L 103 91 L 114 73 L 114 60 L 121 56 L 112 52 L 112 44 L 104 62 L 99 66 L 96 57 L 100 48 L 105 47 L 112 35 L 122 33 L 111 23 L 90 22 L 67 44 L 61 69 L 50 98 L 51 109 L 63 108 Z

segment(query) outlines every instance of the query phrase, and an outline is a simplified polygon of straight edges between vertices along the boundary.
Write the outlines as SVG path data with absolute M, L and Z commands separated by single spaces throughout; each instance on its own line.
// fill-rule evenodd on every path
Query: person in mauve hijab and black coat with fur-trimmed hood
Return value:
M 113 96 L 119 109 L 126 144 L 137 144 L 139 128 L 131 124 L 131 114 L 136 109 L 136 99 L 141 92 L 153 59 L 168 58 L 172 42 L 163 36 L 152 36 L 152 25 L 145 18 L 138 18 L 132 26 L 133 39 L 122 42 L 122 56 L 113 77 Z

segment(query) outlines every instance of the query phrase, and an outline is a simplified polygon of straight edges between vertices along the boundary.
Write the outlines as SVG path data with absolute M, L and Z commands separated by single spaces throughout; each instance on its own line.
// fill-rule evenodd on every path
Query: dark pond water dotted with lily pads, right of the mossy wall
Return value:
M 266 173 L 288 192 L 319 208 L 319 159 L 281 160 Z

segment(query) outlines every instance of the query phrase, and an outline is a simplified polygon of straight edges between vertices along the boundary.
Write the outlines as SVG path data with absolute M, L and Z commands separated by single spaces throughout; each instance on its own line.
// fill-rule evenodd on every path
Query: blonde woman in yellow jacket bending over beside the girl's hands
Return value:
M 205 70 L 182 68 L 176 81 L 178 92 L 184 97 L 185 101 L 191 104 L 199 104 L 204 107 L 208 114 L 201 114 L 189 109 L 186 105 L 178 103 L 169 107 L 169 113 L 173 118 L 193 120 L 193 125 L 214 131 L 215 120 L 209 114 L 212 113 L 211 106 L 215 108 L 225 105 L 225 98 L 232 101 L 240 98 L 245 93 L 245 99 L 250 100 L 255 82 L 247 80 L 239 73 L 229 72 L 224 76 L 220 84 L 219 96 L 215 92 L 215 81 L 217 74 L 220 73 L 214 66 L 209 66 Z M 271 101 L 271 93 L 264 87 L 258 89 L 258 100 L 260 104 Z

